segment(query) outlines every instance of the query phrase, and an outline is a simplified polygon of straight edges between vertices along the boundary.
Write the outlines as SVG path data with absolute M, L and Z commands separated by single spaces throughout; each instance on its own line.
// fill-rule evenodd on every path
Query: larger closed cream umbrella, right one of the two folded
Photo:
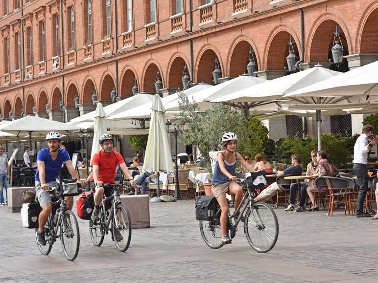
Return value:
M 159 94 L 155 94 L 152 101 L 150 131 L 144 156 L 143 170 L 158 173 L 158 197 L 152 201 L 160 201 L 159 172 L 173 172 L 173 162 L 165 131 L 165 108 Z

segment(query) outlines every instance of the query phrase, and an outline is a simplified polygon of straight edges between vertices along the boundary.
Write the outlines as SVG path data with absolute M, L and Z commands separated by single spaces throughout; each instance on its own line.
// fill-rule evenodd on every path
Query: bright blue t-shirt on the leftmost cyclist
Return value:
M 48 148 L 43 148 L 38 152 L 37 161 L 45 162 L 45 182 L 53 182 L 55 178 L 59 177 L 60 170 L 62 169 L 62 164 L 65 161 L 70 160 L 70 155 L 68 152 L 62 149 L 58 149 L 58 156 L 55 160 L 52 160 L 50 156 L 50 150 Z M 35 174 L 34 179 L 36 181 L 40 181 L 39 179 L 39 172 Z

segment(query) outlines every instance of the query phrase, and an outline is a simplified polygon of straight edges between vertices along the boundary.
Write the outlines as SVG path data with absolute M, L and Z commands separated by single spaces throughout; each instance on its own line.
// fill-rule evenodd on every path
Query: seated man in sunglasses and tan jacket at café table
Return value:
M 318 166 L 318 160 L 316 159 L 316 153 L 318 153 L 317 150 L 311 151 L 311 162 L 307 164 L 307 176 L 312 176 L 313 174 L 319 173 L 319 166 Z M 305 201 L 307 196 L 307 186 L 308 186 L 309 179 L 305 179 L 304 182 L 300 182 L 299 186 L 301 187 L 300 196 L 301 199 L 299 201 L 299 206 L 295 209 L 294 212 L 302 212 L 306 211 L 304 209 L 305 207 Z M 292 183 L 290 185 L 290 200 L 289 205 L 286 207 L 285 211 L 292 211 L 295 208 L 295 192 L 298 190 L 298 183 Z

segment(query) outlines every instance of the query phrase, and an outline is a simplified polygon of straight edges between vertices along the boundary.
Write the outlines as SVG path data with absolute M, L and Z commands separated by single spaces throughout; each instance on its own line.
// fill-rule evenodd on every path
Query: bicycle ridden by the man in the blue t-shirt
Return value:
M 47 190 L 52 194 L 56 193 L 56 191 L 57 188 L 55 187 Z M 47 256 L 53 243 L 57 238 L 60 238 L 64 255 L 69 261 L 74 261 L 79 253 L 80 231 L 74 213 L 66 207 L 67 200 L 64 199 L 65 196 L 65 194 L 62 194 L 57 201 L 52 203 L 52 209 L 45 224 L 46 245 L 42 246 L 37 242 L 37 246 L 41 254 Z M 37 230 L 38 228 L 35 228 L 36 232 Z

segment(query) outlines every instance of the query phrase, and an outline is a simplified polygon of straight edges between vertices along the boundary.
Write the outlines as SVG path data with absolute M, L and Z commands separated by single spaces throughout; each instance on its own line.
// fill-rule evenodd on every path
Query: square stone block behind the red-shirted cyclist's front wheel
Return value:
M 120 196 L 121 202 L 130 213 L 131 228 L 150 227 L 148 195 Z

